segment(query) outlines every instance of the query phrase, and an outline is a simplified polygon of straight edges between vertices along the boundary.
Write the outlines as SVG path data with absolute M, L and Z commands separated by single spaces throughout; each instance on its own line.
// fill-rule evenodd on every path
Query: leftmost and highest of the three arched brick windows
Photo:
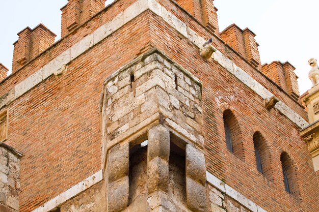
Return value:
M 223 120 L 227 149 L 238 158 L 244 159 L 240 126 L 230 109 L 224 111 Z

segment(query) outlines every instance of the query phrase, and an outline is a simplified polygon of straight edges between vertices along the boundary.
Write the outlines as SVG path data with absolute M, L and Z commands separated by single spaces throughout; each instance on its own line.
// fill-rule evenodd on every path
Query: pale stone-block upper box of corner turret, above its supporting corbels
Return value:
M 164 121 L 203 148 L 201 83 L 168 58 L 150 52 L 115 72 L 104 84 L 104 152 L 142 127 Z

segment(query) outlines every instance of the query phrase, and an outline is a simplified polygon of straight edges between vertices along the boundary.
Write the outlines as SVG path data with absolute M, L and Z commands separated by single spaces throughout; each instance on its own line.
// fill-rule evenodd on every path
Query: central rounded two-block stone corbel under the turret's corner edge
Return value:
M 170 158 L 170 133 L 163 125 L 148 132 L 147 176 L 148 193 L 168 191 L 168 161 Z

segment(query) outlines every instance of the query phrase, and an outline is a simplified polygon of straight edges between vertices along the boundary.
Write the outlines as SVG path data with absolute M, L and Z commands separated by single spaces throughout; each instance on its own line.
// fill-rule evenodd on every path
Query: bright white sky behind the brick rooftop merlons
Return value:
M 26 26 L 40 22 L 60 39 L 61 11 L 67 0 L 0 0 L 0 63 L 11 69 L 13 43 Z M 113 2 L 108 0 L 107 4 Z M 311 87 L 308 79 L 310 57 L 319 59 L 318 0 L 215 0 L 222 31 L 236 23 L 250 28 L 257 36 L 261 63 L 274 60 L 296 67 L 299 89 Z M 9 72 L 11 73 L 11 71 Z

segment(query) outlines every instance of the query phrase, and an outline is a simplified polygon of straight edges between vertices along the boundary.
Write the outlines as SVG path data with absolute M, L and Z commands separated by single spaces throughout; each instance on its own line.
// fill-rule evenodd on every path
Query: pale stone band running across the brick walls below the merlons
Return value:
M 105 23 L 96 31 L 83 38 L 77 44 L 61 53 L 56 58 L 52 59 L 47 65 L 35 72 L 30 77 L 15 85 L 9 93 L 2 97 L 0 108 L 10 104 L 15 99 L 19 98 L 24 93 L 28 92 L 32 87 L 36 86 L 52 74 L 60 74 L 63 66 L 71 62 L 74 58 L 86 52 L 89 48 L 96 45 L 104 38 L 114 33 L 117 29 L 123 26 L 128 21 L 134 19 L 145 10 L 150 10 L 153 13 L 161 16 L 169 25 L 174 27 L 181 35 L 188 38 L 194 45 L 201 47 L 205 39 L 198 36 L 198 34 L 178 19 L 171 12 L 159 5 L 155 0 L 139 0 L 129 6 L 124 12 L 118 14 L 110 22 Z M 267 99 L 274 96 L 267 88 L 263 87 L 255 79 L 253 79 L 244 70 L 237 67 L 230 59 L 217 50 L 213 54 L 214 60 L 223 66 L 227 71 L 233 74 L 237 79 L 241 80 L 244 84 L 250 87 L 261 98 Z M 299 128 L 304 128 L 308 125 L 305 119 L 297 114 L 293 109 L 289 108 L 282 101 L 279 101 L 276 108 L 285 115 L 291 122 L 295 123 Z

